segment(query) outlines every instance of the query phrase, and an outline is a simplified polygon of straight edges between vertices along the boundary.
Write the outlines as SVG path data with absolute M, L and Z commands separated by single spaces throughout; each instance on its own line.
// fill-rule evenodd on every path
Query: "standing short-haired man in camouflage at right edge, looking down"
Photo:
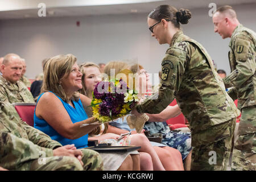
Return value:
M 231 6 L 222 6 L 213 14 L 214 32 L 231 38 L 231 73 L 224 79 L 229 95 L 238 99 L 241 121 L 232 156 L 233 170 L 253 170 L 256 163 L 256 34 L 243 27 Z

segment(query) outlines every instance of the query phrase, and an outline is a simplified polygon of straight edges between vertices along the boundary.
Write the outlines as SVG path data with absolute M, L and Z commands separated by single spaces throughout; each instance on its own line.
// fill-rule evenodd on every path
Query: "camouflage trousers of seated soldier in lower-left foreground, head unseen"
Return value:
M 81 165 L 78 159 L 71 156 L 52 156 L 48 158 L 39 158 L 34 160 L 30 166 L 31 171 L 102 171 L 103 163 L 98 152 L 81 149 L 82 162 Z M 22 169 L 21 169 L 22 170 Z M 23 169 L 27 170 L 27 169 Z

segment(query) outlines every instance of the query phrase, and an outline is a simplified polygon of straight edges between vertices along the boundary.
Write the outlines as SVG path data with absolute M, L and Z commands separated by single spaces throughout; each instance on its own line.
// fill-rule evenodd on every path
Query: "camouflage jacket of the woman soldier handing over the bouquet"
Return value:
M 158 97 L 154 94 L 137 105 L 138 112 L 160 113 L 176 98 L 189 121 L 192 146 L 196 142 L 193 134 L 240 114 L 226 93 L 224 82 L 215 71 L 207 51 L 182 31 L 176 32 L 166 51 L 160 84 Z

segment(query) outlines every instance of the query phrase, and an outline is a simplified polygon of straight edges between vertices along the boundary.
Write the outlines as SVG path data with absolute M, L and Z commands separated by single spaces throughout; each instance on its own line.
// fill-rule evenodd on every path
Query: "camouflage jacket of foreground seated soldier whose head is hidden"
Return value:
M 0 96 L 1 97 L 1 96 Z M 61 144 L 20 121 L 14 107 L 0 101 L 0 166 L 7 169 L 30 168 L 40 156 L 53 156 Z

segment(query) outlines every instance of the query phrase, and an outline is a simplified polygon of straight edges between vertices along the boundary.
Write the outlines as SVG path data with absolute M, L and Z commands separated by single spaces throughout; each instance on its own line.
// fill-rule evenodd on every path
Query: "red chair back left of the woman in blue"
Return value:
M 34 126 L 34 110 L 35 110 L 35 102 L 24 103 L 24 102 L 16 102 L 13 103 L 19 117 L 26 122 L 30 126 Z

